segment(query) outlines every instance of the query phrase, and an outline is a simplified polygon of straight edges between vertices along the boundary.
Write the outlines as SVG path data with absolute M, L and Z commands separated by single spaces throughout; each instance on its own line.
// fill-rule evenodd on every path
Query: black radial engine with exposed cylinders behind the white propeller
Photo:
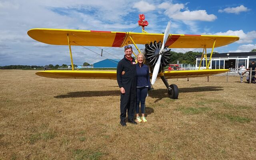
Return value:
M 169 64 L 168 60 L 170 60 L 170 58 L 168 56 L 171 55 L 170 49 L 166 50 L 166 48 L 168 48 L 168 46 L 165 46 L 162 53 L 159 53 L 161 46 L 162 46 L 161 41 L 159 41 L 158 43 L 156 41 L 154 41 L 154 42 L 150 42 L 150 44 L 145 44 L 145 54 L 144 55 L 145 55 L 148 65 L 150 66 L 150 72 L 153 72 L 154 66 L 156 65 L 159 54 L 162 54 L 162 58 L 161 58 L 161 63 L 160 63 L 160 68 L 159 68 L 158 73 L 160 71 L 164 72 L 164 67 Z

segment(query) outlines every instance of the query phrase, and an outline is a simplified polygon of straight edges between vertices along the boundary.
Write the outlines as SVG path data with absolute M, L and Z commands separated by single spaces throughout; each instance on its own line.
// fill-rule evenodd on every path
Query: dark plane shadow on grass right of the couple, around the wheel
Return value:
M 204 86 L 204 87 L 189 87 L 179 88 L 179 93 L 191 93 L 191 92 L 207 92 L 207 91 L 220 91 L 223 87 L 220 86 Z M 158 98 L 155 102 L 158 102 L 162 98 L 168 97 L 166 89 L 150 90 L 148 96 L 151 98 Z

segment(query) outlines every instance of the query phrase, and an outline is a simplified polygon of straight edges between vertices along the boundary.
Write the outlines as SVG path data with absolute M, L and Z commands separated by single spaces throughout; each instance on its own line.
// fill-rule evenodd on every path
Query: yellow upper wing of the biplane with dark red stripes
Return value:
M 35 28 L 28 31 L 28 35 L 39 42 L 55 45 L 74 46 L 107 46 L 123 47 L 132 44 L 130 37 L 136 44 L 147 44 L 162 41 L 164 34 L 134 33 L 134 32 L 110 32 L 94 30 L 64 30 Z M 169 48 L 212 48 L 216 39 L 215 47 L 225 46 L 239 40 L 237 36 L 216 35 L 188 35 L 169 34 L 166 46 Z

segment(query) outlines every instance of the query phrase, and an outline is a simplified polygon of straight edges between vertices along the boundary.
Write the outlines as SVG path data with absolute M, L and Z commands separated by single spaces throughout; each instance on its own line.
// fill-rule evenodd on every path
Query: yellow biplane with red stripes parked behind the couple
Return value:
M 139 25 L 142 26 L 142 33 L 134 32 L 110 32 L 95 30 L 66 30 L 66 29 L 47 29 L 35 28 L 28 31 L 28 35 L 39 42 L 54 45 L 68 45 L 70 50 L 70 60 L 72 70 L 46 70 L 36 72 L 38 76 L 48 78 L 101 78 L 116 80 L 116 71 L 78 71 L 74 70 L 71 46 L 105 46 L 105 47 L 124 47 L 133 44 L 138 52 L 136 44 L 144 44 L 144 55 L 146 64 L 152 73 L 152 84 L 157 76 L 160 76 L 166 88 L 168 96 L 173 99 L 178 98 L 178 87 L 175 84 L 169 85 L 166 79 L 170 78 L 192 78 L 210 76 L 228 72 L 227 69 L 210 70 L 210 60 L 214 47 L 225 46 L 239 40 L 237 36 L 216 36 L 216 35 L 189 35 L 189 34 L 169 34 L 170 22 L 164 34 L 152 34 L 144 31 L 148 25 L 144 21 L 144 15 L 139 15 Z M 163 40 L 161 42 L 161 40 Z M 203 48 L 202 57 L 206 56 L 206 48 L 212 48 L 210 60 L 206 65 L 206 70 L 181 70 L 164 71 L 170 59 L 167 48 Z M 207 58 L 207 57 L 206 57 Z M 202 62 L 202 58 L 201 58 Z M 201 64 L 200 62 L 200 64 Z

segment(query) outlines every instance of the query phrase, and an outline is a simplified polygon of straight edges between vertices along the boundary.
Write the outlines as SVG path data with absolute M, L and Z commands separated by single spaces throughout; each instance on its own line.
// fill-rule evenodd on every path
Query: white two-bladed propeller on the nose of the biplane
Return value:
M 159 57 L 158 57 L 158 60 L 156 62 L 156 65 L 154 67 L 154 70 L 153 70 L 153 74 L 152 74 L 152 80 L 151 80 L 151 84 L 154 84 L 156 82 L 156 77 L 158 75 L 158 71 L 159 71 L 159 68 L 160 68 L 160 63 L 161 63 L 161 58 L 162 58 L 162 52 L 164 50 L 164 45 L 166 43 L 166 40 L 168 38 L 168 35 L 169 35 L 169 31 L 170 31 L 170 26 L 171 26 L 171 22 L 168 22 L 167 26 L 166 26 L 166 29 L 165 29 L 165 32 L 164 32 L 164 40 L 163 40 L 163 44 L 162 44 L 162 47 L 159 51 Z

